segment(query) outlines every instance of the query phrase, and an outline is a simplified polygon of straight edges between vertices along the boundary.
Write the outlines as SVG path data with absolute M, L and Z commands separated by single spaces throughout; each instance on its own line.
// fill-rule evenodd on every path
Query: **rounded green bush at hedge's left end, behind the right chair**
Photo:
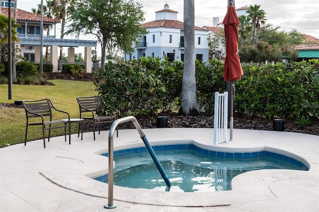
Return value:
M 153 114 L 162 106 L 162 82 L 137 60 L 109 62 L 94 76 L 96 88 L 121 116 Z

